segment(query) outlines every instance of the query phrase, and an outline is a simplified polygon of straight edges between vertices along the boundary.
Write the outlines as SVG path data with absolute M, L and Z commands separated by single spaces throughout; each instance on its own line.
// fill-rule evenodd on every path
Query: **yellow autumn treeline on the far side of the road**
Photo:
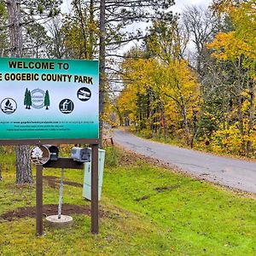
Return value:
M 256 6 L 187 7 L 154 20 L 122 61 L 119 125 L 217 153 L 256 153 Z

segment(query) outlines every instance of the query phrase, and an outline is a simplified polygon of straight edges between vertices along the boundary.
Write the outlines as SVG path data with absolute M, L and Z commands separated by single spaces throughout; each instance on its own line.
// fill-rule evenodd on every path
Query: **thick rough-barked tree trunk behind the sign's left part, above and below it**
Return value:
M 22 56 L 22 32 L 20 19 L 20 0 L 6 2 L 9 19 L 10 54 Z M 32 183 L 32 168 L 29 160 L 29 146 L 16 146 L 16 183 Z

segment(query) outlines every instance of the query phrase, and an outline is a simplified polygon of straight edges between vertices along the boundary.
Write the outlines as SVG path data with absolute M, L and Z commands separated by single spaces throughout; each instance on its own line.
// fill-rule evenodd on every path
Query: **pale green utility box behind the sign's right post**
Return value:
M 105 150 L 99 149 L 98 154 L 99 154 L 99 157 L 98 157 L 98 165 L 99 165 L 98 197 L 99 197 L 99 200 L 101 200 L 104 161 L 105 161 Z M 85 197 L 88 200 L 91 200 L 91 161 L 84 163 L 83 197 Z

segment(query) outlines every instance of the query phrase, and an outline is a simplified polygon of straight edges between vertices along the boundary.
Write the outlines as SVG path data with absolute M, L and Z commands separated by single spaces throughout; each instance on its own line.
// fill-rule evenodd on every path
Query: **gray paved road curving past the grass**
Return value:
M 124 148 L 177 166 L 196 177 L 256 193 L 256 162 L 154 143 L 121 130 L 114 131 L 113 140 Z

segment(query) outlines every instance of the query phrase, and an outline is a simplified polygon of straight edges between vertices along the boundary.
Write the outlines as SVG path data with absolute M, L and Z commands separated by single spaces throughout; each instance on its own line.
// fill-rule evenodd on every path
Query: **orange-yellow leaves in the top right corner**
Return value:
M 233 1 L 219 1 L 219 12 L 228 13 L 236 27 L 233 32 L 219 32 L 212 43 L 212 55 L 221 60 L 237 60 L 242 56 L 242 65 L 252 70 L 255 76 L 256 66 L 256 9 L 252 0 L 237 4 Z

